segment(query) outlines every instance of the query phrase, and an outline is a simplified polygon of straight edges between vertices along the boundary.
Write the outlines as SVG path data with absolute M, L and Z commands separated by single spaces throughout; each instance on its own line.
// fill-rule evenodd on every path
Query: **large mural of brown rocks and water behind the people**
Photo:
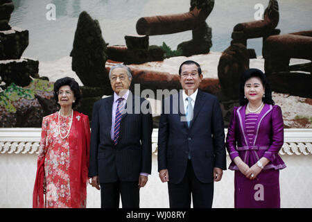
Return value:
M 91 120 L 122 62 L 157 128 L 160 100 L 181 89 L 180 64 L 195 60 L 226 127 L 241 73 L 258 68 L 285 127 L 312 128 L 311 11 L 311 0 L 0 0 L 0 127 L 41 127 L 58 110 L 53 83 L 64 76 L 78 81 L 78 111 Z

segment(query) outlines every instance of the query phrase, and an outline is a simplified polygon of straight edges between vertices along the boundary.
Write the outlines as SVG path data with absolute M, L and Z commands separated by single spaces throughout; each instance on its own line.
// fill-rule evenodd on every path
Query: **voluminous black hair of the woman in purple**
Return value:
M 260 78 L 261 83 L 263 87 L 265 88 L 264 98 L 262 98 L 263 103 L 274 105 L 275 103 L 272 100 L 272 91 L 268 83 L 268 79 L 266 78 L 266 75 L 263 74 L 263 72 L 259 69 L 247 69 L 241 75 L 241 84 L 239 86 L 239 105 L 245 105 L 248 103 L 248 99 L 244 98 L 245 97 L 244 87 L 245 87 L 246 81 L 252 77 Z

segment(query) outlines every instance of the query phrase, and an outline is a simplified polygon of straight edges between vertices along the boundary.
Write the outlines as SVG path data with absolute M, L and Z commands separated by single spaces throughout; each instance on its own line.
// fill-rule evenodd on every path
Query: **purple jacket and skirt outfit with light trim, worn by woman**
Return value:
M 234 205 L 240 207 L 280 207 L 279 169 L 286 165 L 279 156 L 284 143 L 284 123 L 278 105 L 265 104 L 259 114 L 245 114 L 246 105 L 234 107 L 227 130 L 227 151 L 234 170 Z M 249 167 L 261 157 L 270 162 L 257 179 L 246 178 L 234 163 L 235 157 Z

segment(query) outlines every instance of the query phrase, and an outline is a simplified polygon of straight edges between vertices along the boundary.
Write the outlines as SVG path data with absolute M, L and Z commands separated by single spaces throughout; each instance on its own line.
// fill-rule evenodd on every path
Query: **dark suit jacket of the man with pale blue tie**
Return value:
M 177 102 L 178 101 L 178 102 Z M 213 182 L 213 169 L 226 169 L 223 116 L 216 96 L 198 90 L 190 127 L 182 93 L 164 99 L 158 131 L 158 171 L 168 169 L 169 181 L 181 182 L 189 152 L 200 182 Z

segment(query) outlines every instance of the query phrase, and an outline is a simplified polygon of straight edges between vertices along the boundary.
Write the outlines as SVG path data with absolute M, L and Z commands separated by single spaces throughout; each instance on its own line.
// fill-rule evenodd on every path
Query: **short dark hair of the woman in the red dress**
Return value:
M 73 108 L 76 107 L 82 98 L 82 94 L 80 92 L 80 88 L 76 80 L 74 78 L 69 77 L 60 78 L 56 80 L 56 82 L 54 83 L 53 95 L 56 104 L 58 105 L 58 90 L 63 85 L 69 85 L 69 87 L 71 87 L 71 91 L 73 91 L 73 96 L 76 97 L 75 103 L 73 103 L 72 107 Z

